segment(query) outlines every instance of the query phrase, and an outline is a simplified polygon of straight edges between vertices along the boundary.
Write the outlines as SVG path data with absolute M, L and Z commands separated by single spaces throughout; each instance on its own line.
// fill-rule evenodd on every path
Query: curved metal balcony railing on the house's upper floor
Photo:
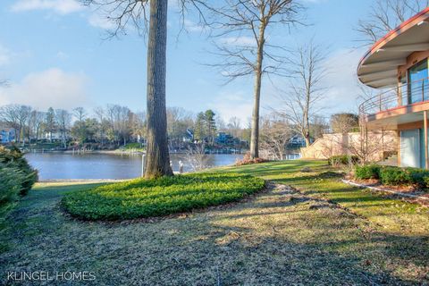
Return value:
M 378 114 L 401 106 L 413 105 L 429 100 L 429 80 L 417 80 L 386 90 L 359 105 L 359 114 Z

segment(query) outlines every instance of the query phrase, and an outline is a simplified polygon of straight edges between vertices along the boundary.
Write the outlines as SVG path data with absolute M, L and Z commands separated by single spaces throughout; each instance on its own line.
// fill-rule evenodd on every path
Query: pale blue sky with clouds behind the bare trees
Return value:
M 271 29 L 269 40 L 294 48 L 310 39 L 326 48 L 321 113 L 328 117 L 356 112 L 360 89 L 356 67 L 366 48 L 357 48 L 354 30 L 366 17 L 371 0 L 301 0 L 307 6 L 306 27 Z M 209 53 L 209 39 L 189 13 L 187 30 L 170 4 L 167 47 L 167 105 L 194 114 L 206 109 L 228 122 L 232 116 L 248 122 L 253 104 L 252 77 L 225 84 L 220 71 L 206 63 L 222 58 Z M 127 35 L 107 38 L 112 23 L 99 10 L 75 0 L 2 0 L 0 4 L 0 105 L 31 105 L 39 110 L 118 104 L 134 111 L 146 106 L 147 46 L 130 27 Z M 246 40 L 239 38 L 238 40 Z M 264 78 L 262 113 L 280 106 L 284 78 Z

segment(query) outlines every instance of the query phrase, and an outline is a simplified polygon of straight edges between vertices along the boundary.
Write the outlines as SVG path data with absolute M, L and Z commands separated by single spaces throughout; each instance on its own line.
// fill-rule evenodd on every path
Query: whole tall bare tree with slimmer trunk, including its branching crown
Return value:
M 214 27 L 221 43 L 215 43 L 215 55 L 222 63 L 210 64 L 222 71 L 229 81 L 253 75 L 254 105 L 250 139 L 250 156 L 258 157 L 259 108 L 264 74 L 283 74 L 286 58 L 276 55 L 273 49 L 284 53 L 285 48 L 269 43 L 267 33 L 273 26 L 299 23 L 302 6 L 296 0 L 223 0 L 222 2 L 194 1 L 213 14 L 209 24 Z M 223 3 L 223 4 L 217 4 Z

